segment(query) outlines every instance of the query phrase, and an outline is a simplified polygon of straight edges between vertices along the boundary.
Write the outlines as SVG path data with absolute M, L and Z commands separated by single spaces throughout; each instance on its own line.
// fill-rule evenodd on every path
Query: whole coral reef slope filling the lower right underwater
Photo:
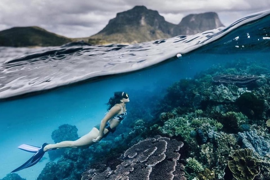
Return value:
M 268 73 L 245 59 L 215 65 L 194 79 L 181 79 L 166 92 L 133 90 L 129 116 L 114 134 L 89 149 L 63 150 L 58 162 L 49 162 L 38 180 L 268 180 Z M 145 102 L 146 98 L 151 101 Z M 68 139 L 75 138 L 77 130 L 68 128 L 74 134 Z M 65 128 L 54 137 L 62 135 L 69 135 Z M 185 159 L 184 168 L 180 162 Z M 258 167 L 261 172 L 255 176 Z

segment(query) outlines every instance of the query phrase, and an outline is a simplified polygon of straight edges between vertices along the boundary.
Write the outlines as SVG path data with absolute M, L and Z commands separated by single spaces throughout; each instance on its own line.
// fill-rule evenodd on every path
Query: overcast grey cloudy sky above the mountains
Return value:
M 225 26 L 270 9 L 269 0 L 0 0 L 0 31 L 39 26 L 69 38 L 88 37 L 104 28 L 116 13 L 136 5 L 157 10 L 174 24 L 188 14 L 212 11 Z

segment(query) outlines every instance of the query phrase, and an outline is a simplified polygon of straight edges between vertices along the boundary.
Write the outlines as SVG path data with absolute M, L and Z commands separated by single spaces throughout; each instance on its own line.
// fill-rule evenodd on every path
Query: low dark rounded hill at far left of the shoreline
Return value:
M 60 46 L 69 42 L 71 39 L 50 33 L 37 26 L 14 27 L 0 31 L 0 46 Z

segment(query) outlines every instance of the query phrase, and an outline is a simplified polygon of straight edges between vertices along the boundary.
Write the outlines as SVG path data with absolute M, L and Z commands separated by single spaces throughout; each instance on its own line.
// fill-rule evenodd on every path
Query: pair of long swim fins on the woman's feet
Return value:
M 20 170 L 25 169 L 27 167 L 34 166 L 36 163 L 38 163 L 40 161 L 40 159 L 43 157 L 43 155 L 45 154 L 43 149 L 46 145 L 48 145 L 48 143 L 44 143 L 41 147 L 31 146 L 28 144 L 20 145 L 18 147 L 19 149 L 21 149 L 23 151 L 27 151 L 27 152 L 34 152 L 35 154 L 28 161 L 26 161 L 23 165 L 14 169 L 12 172 L 20 171 Z M 49 149 L 48 151 L 50 151 L 50 150 L 53 150 L 53 149 Z

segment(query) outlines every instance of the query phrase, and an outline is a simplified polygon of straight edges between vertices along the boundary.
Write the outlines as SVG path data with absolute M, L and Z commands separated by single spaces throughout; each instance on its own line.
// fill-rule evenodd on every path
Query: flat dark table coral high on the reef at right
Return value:
M 217 75 L 212 78 L 214 82 L 219 83 L 233 83 L 233 84 L 248 84 L 252 83 L 261 77 L 256 75 L 247 75 L 247 76 L 239 76 L 239 75 Z

